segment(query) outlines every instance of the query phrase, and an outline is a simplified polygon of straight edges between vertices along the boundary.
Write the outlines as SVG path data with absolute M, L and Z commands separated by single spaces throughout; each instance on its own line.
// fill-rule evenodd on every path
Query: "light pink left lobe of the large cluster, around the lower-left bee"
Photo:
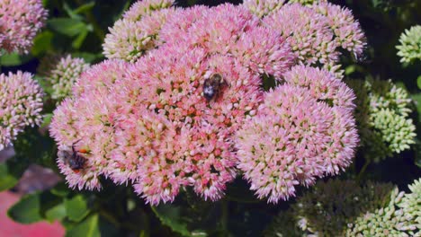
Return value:
M 104 61 L 80 76 L 72 98 L 62 101 L 54 111 L 49 132 L 58 143 L 58 168 L 71 188 L 100 189 L 99 176 L 108 176 L 109 153 L 113 142 L 115 114 L 119 103 L 108 92 L 117 78 L 126 73 L 122 61 Z M 68 165 L 72 146 L 85 157 L 84 168 L 73 171 Z

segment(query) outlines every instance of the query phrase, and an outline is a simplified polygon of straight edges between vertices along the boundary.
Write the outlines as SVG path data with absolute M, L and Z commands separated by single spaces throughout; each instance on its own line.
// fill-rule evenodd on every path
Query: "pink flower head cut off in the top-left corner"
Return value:
M 28 53 L 46 19 L 41 0 L 0 0 L 0 48 Z

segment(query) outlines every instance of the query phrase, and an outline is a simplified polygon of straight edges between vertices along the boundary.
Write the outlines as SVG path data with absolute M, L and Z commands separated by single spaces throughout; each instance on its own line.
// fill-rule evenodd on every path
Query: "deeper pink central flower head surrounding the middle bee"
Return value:
M 235 58 L 207 57 L 199 48 L 183 53 L 163 47 L 155 52 L 153 56 L 141 58 L 130 72 L 130 82 L 138 81 L 135 85 L 139 86 L 130 83 L 130 90 L 141 91 L 130 101 L 135 107 L 145 108 L 142 113 L 155 111 L 162 116 L 171 125 L 164 126 L 168 127 L 164 132 L 170 134 L 161 136 L 165 139 L 161 146 L 140 147 L 134 139 L 158 144 L 157 139 L 134 136 L 132 131 L 136 132 L 137 128 L 124 129 L 127 136 L 121 137 L 122 145 L 116 154 L 141 155 L 143 162 L 124 170 L 139 176 L 136 191 L 154 205 L 173 201 L 179 189 L 188 186 L 205 199 L 219 199 L 235 174 L 237 156 L 232 149 L 231 135 L 247 114 L 255 113 L 262 98 L 259 78 Z M 218 99 L 207 101 L 202 94 L 203 83 L 214 74 L 221 75 L 227 85 Z M 127 92 L 123 96 L 127 97 Z M 124 123 L 136 127 L 144 119 L 142 113 L 121 117 Z M 134 162 L 139 161 L 139 155 L 133 156 Z M 124 158 L 119 161 L 125 162 Z M 115 166 L 124 165 L 116 162 Z M 168 179 L 157 179 L 157 171 Z

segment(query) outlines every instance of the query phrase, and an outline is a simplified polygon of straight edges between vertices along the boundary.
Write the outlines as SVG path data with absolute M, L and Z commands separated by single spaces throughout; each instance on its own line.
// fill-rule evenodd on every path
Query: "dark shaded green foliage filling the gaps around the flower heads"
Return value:
M 44 0 L 49 10 L 46 27 L 37 35 L 29 55 L 9 54 L 0 57 L 1 72 L 23 70 L 37 73 L 42 58 L 71 54 L 94 64 L 104 59 L 102 44 L 112 27 L 135 1 L 114 0 Z M 177 5 L 221 4 L 222 0 L 180 0 Z M 238 4 L 241 1 L 229 1 Z M 350 8 L 361 22 L 368 40 L 364 57 L 355 61 L 344 53 L 342 66 L 346 79 L 391 79 L 406 88 L 413 99 L 417 133 L 421 131 L 421 61 L 401 64 L 397 56 L 399 36 L 405 29 L 421 23 L 421 1 L 416 0 L 342 0 L 331 1 Z M 36 75 L 42 84 L 42 77 Z M 16 185 L 31 163 L 52 169 L 56 147 L 46 132 L 50 114 L 55 108 L 45 101 L 44 125 L 29 128 L 14 143 L 15 155 L 0 164 L 0 190 Z M 41 131 L 41 132 L 40 132 Z M 351 168 L 340 179 L 388 181 L 408 190 L 408 184 L 421 177 L 421 142 L 412 149 L 377 163 L 368 163 L 358 154 Z M 357 177 L 357 178 L 355 178 Z M 63 180 L 63 179 L 61 179 Z M 116 187 L 103 180 L 102 191 L 67 189 L 61 181 L 46 190 L 28 194 L 14 205 L 8 215 L 29 224 L 40 220 L 58 220 L 67 236 L 259 236 L 280 210 L 291 203 L 277 206 L 253 197 L 246 181 L 237 178 L 230 184 L 227 196 L 216 203 L 204 202 L 188 190 L 171 205 L 151 207 L 133 190 Z M 302 192 L 298 192 L 300 197 Z

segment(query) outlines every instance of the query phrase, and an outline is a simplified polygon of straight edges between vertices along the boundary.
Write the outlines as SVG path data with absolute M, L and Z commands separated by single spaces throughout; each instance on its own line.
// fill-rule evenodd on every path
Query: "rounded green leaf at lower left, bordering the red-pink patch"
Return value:
M 23 197 L 7 211 L 13 221 L 31 224 L 42 220 L 40 215 L 40 194 L 35 193 Z

